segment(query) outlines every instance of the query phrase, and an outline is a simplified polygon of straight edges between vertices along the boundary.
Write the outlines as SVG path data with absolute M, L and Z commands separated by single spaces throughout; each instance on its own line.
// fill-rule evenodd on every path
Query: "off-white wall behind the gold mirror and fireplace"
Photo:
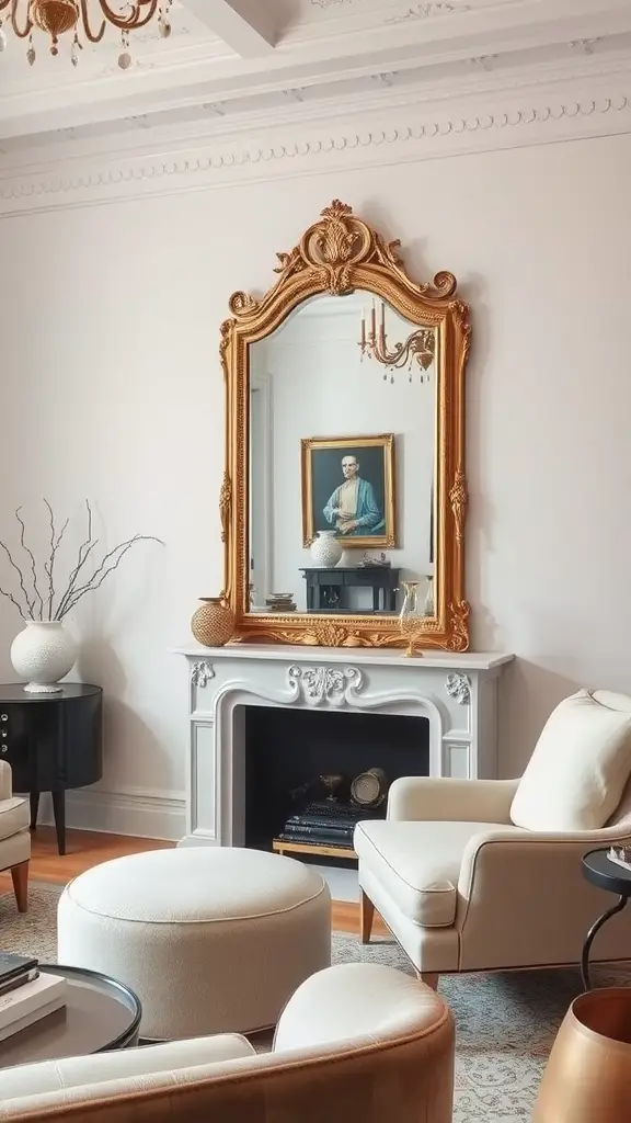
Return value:
M 264 290 L 276 250 L 333 195 L 401 237 L 413 275 L 455 272 L 473 305 L 467 587 L 475 647 L 519 656 L 504 773 L 568 690 L 631 690 L 631 137 L 369 176 L 351 159 L 0 222 L 2 535 L 15 505 L 46 493 L 77 513 L 91 496 L 110 544 L 137 530 L 166 542 L 76 615 L 81 672 L 108 695 L 103 787 L 124 798 L 175 807 L 184 783 L 186 682 L 168 649 L 198 594 L 221 587 L 228 295 Z M 1 602 L 4 676 L 17 628 Z

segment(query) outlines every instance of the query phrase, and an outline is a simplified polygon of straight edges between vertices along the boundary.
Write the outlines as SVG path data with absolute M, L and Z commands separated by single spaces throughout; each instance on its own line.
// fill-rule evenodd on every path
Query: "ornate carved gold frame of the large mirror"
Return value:
M 415 284 L 399 257 L 399 241 L 387 243 L 346 203 L 333 200 L 289 254 L 277 254 L 280 274 L 260 300 L 245 292 L 230 298 L 232 318 L 221 325 L 226 377 L 226 472 L 220 495 L 226 550 L 226 595 L 235 613 L 235 639 L 303 643 L 312 647 L 403 647 L 396 615 L 375 618 L 316 613 L 249 613 L 248 347 L 274 331 L 293 309 L 320 293 L 344 295 L 365 290 L 392 304 L 414 323 L 437 335 L 437 548 L 436 615 L 419 633 L 419 648 L 466 651 L 469 606 L 464 596 L 465 476 L 464 375 L 469 353 L 467 304 L 456 299 L 451 273 Z M 298 530 L 300 533 L 300 528 Z

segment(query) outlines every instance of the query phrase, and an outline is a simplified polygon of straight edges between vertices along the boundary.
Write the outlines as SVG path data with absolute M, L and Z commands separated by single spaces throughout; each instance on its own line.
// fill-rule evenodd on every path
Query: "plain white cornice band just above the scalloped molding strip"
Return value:
M 571 49 L 569 49 L 571 47 Z M 606 55 L 593 52 L 592 43 L 568 45 L 568 57 L 551 58 L 538 64 L 513 65 L 510 69 L 494 65 L 477 65 L 479 58 L 469 60 L 469 66 L 460 72 L 457 81 L 438 75 L 433 81 L 417 76 L 410 84 L 393 85 L 388 75 L 373 75 L 360 89 L 351 89 L 344 97 L 347 119 L 357 113 L 369 113 L 374 121 L 375 115 L 385 110 L 397 110 L 410 116 L 422 110 L 423 115 L 443 115 L 446 106 L 457 106 L 457 111 L 468 115 L 469 110 L 477 112 L 481 101 L 490 101 L 494 108 L 512 99 L 516 91 L 530 98 L 530 91 L 539 95 L 541 88 L 549 89 L 554 94 L 555 85 L 564 85 L 565 91 L 574 100 L 580 100 L 591 90 L 594 82 L 602 82 L 609 93 L 615 86 L 627 89 L 631 77 L 631 36 L 624 48 L 610 51 Z M 484 56 L 487 58 L 488 56 Z M 383 79 L 384 81 L 378 81 Z M 336 97 L 327 97 L 326 88 L 317 91 L 318 97 L 304 100 L 302 93 L 295 90 L 281 90 L 275 107 L 268 103 L 259 108 L 253 99 L 249 108 L 239 113 L 225 112 L 225 106 L 202 103 L 195 99 L 181 99 L 168 113 L 168 124 L 164 124 L 164 115 L 135 113 L 121 121 L 112 122 L 111 129 L 84 131 L 77 128 L 61 128 L 43 135 L 40 138 L 21 138 L 17 145 L 0 141 L 0 176 L 18 172 L 31 166 L 48 166 L 61 161 L 72 165 L 76 158 L 90 157 L 113 158 L 126 153 L 143 152 L 150 145 L 153 150 L 184 150 L 191 145 L 207 146 L 217 144 L 221 138 L 245 137 L 252 139 L 253 134 L 267 134 L 271 128 L 299 128 L 304 131 L 313 125 L 328 127 L 333 118 L 337 124 L 342 90 L 340 83 L 335 84 Z M 564 91 L 564 92 L 565 92 Z M 294 93 L 300 95 L 293 97 Z M 465 107 L 466 102 L 466 107 Z M 448 109 L 450 113 L 452 110 Z M 399 116 L 400 120 L 401 117 Z

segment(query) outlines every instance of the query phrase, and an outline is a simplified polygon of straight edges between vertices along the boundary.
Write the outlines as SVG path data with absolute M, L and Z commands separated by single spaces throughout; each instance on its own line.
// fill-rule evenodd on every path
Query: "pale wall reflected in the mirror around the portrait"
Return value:
M 319 298 L 301 308 L 267 339 L 250 350 L 250 376 L 267 380 L 271 398 L 268 457 L 260 435 L 254 446 L 255 475 L 271 467 L 273 514 L 258 506 L 253 514 L 272 539 L 271 582 L 259 588 L 257 603 L 271 592 L 292 592 L 300 611 L 307 606 L 301 567 L 313 565 L 302 546 L 301 440 L 304 437 L 395 436 L 395 503 L 397 548 L 388 549 L 401 579 L 424 578 L 430 563 L 431 494 L 435 457 L 436 372 L 420 381 L 414 365 L 387 372 L 373 359 L 362 360 L 358 340 L 360 316 L 369 320 L 371 299 L 355 293 L 342 299 Z M 393 308 L 386 310 L 388 346 L 405 340 L 414 326 Z M 341 453 L 340 453 L 341 460 Z M 341 482 L 341 468 L 340 468 Z M 260 535 L 263 538 L 263 533 Z M 347 550 L 342 564 L 356 565 L 366 547 Z M 371 553 L 381 553 L 372 550 Z M 256 560 L 256 558 L 255 558 Z M 350 590 L 353 608 L 371 609 L 369 590 Z M 424 595 L 424 590 L 423 590 Z

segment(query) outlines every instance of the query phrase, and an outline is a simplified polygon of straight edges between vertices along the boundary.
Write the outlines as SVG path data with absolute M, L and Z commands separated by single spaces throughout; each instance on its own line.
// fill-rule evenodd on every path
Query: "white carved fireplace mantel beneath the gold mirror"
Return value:
M 367 649 L 180 648 L 189 664 L 186 834 L 181 846 L 243 846 L 243 706 L 427 718 L 430 776 L 497 775 L 497 685 L 512 655 L 406 657 Z

